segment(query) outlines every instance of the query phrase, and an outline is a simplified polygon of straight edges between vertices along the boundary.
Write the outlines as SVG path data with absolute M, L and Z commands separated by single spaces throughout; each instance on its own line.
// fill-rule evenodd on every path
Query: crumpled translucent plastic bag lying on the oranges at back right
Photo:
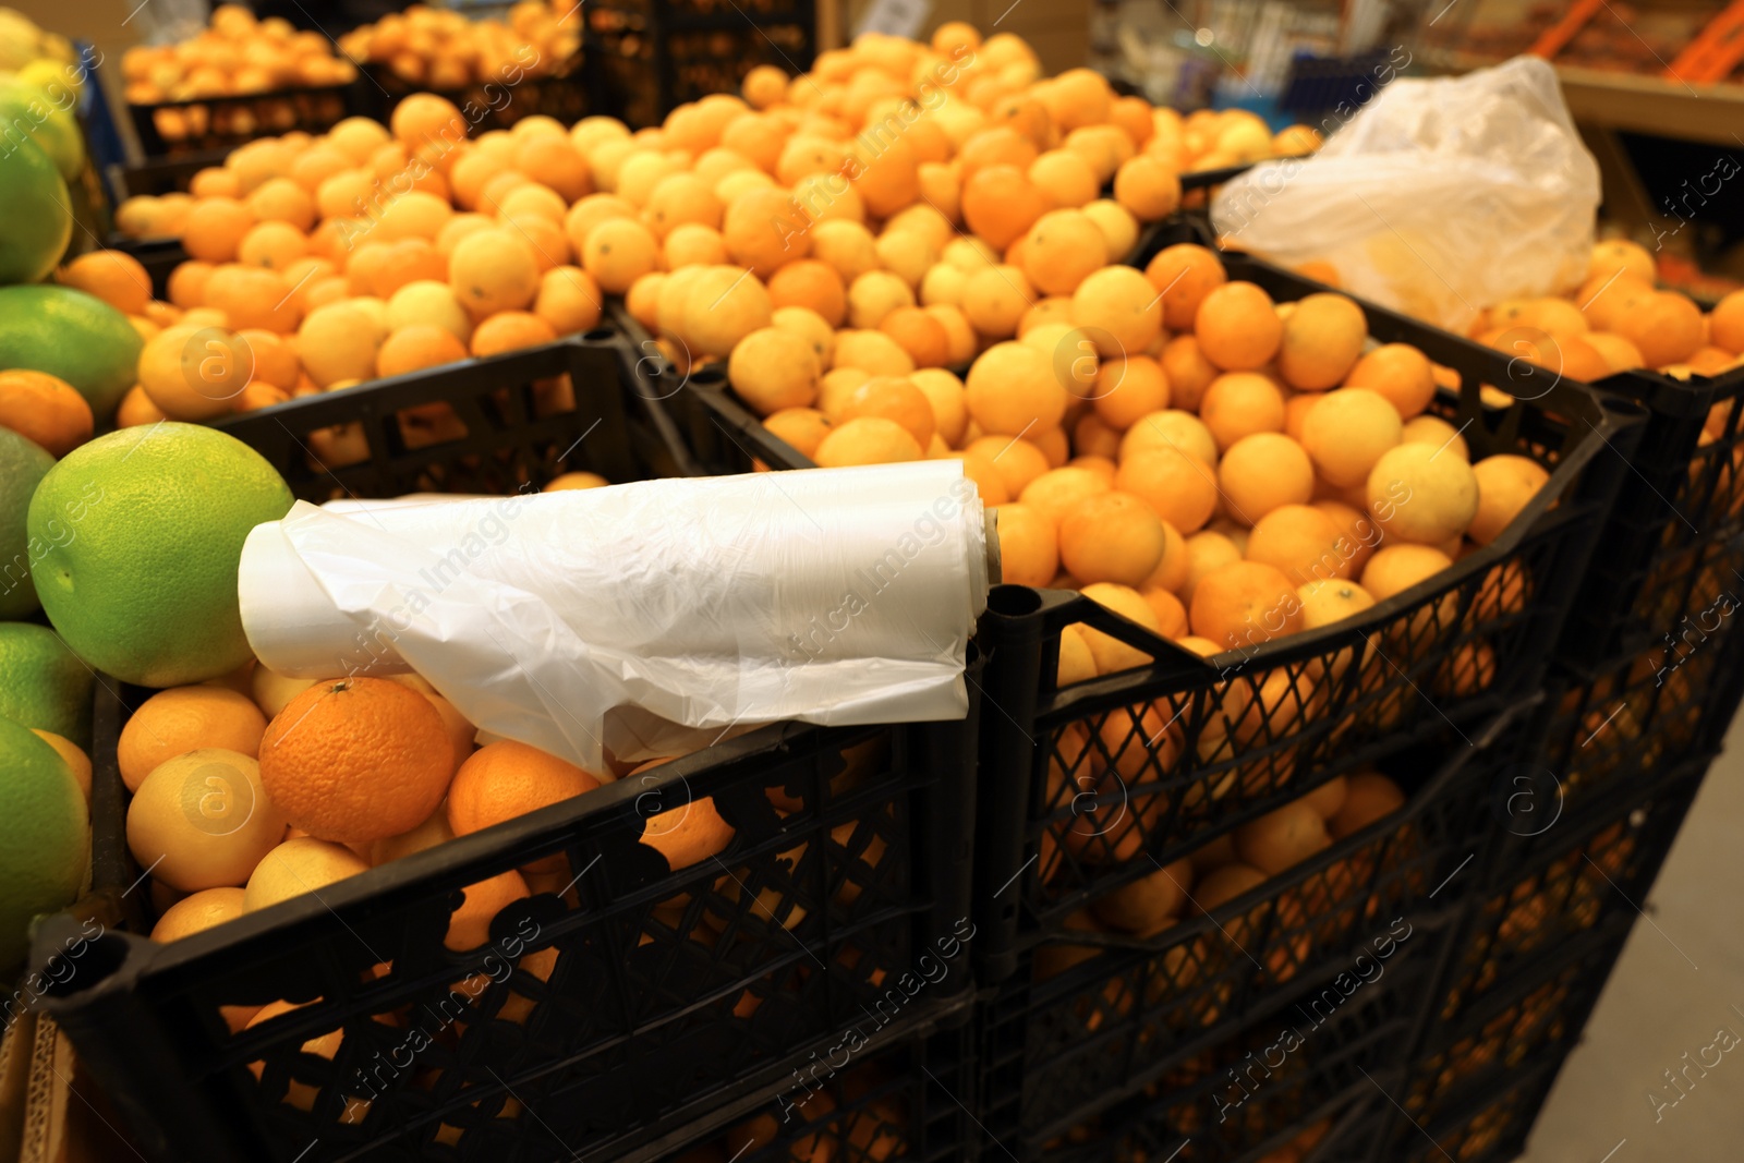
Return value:
M 1599 167 L 1556 73 L 1516 58 L 1385 85 L 1317 155 L 1226 183 L 1212 225 L 1231 246 L 1331 263 L 1352 295 L 1465 333 L 1503 298 L 1577 286 L 1598 204 Z

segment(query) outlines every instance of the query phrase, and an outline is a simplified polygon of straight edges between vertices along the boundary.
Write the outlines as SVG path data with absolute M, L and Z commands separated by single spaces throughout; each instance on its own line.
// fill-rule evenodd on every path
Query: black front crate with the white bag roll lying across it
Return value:
M 637 434 L 624 357 L 621 338 L 582 337 L 220 427 L 310 500 L 663 474 L 682 453 L 652 420 Z M 562 375 L 577 403 L 537 415 Z M 412 408 L 450 408 L 466 436 L 408 446 Z M 317 469 L 309 436 L 337 422 L 361 425 L 366 457 Z M 652 1160 L 705 1112 L 780 1093 L 846 1030 L 869 1053 L 896 1044 L 970 987 L 975 701 L 963 722 L 764 727 L 155 945 L 115 764 L 148 694 L 98 687 L 94 891 L 40 928 L 31 964 L 77 945 L 44 1006 L 150 1158 Z M 734 835 L 673 872 L 638 837 L 701 799 Z M 562 868 L 490 943 L 446 949 L 466 886 L 542 860 Z M 105 933 L 78 945 L 87 919 Z M 237 1034 L 221 1013 L 274 1001 L 300 1006 Z M 338 1046 L 302 1050 L 331 1032 Z

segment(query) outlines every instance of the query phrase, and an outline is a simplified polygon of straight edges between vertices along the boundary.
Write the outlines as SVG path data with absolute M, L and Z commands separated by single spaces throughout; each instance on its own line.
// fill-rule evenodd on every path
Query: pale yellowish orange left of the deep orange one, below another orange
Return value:
M 253 757 L 223 748 L 183 752 L 134 790 L 127 851 L 183 893 L 239 886 L 284 837 L 277 804 L 267 800 Z

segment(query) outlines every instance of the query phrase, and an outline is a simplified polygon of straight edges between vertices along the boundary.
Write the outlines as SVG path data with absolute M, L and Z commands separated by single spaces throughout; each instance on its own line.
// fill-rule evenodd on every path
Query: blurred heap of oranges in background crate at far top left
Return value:
M 192 40 L 127 49 L 120 73 L 131 105 L 344 85 L 358 77 L 321 33 L 296 31 L 281 16 L 258 21 L 241 3 L 220 3 Z

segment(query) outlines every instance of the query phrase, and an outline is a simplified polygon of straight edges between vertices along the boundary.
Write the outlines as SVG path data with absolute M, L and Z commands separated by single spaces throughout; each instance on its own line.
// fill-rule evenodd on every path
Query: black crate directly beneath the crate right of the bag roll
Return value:
M 1477 746 L 1442 732 L 1399 755 L 1400 811 L 1209 915 L 1149 938 L 1071 928 L 1022 956 L 980 1017 L 984 1121 L 1020 1156 L 1034 1151 L 1257 1015 L 1338 1010 L 1341 975 L 1364 956 L 1381 964 L 1376 980 L 1411 980 L 1413 1001 L 1427 1004 L 1461 915 L 1460 893 L 1441 889 L 1481 851 L 1488 788 L 1524 722 L 1495 720 Z

